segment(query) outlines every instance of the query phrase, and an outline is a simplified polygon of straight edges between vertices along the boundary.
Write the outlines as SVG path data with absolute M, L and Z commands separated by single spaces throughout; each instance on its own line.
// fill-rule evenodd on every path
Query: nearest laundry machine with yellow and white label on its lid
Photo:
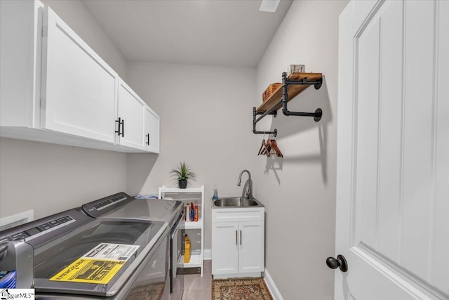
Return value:
M 26 244 L 35 299 L 168 300 L 169 233 L 163 221 L 70 209 L 1 231 L 0 270 L 14 261 L 14 244 Z

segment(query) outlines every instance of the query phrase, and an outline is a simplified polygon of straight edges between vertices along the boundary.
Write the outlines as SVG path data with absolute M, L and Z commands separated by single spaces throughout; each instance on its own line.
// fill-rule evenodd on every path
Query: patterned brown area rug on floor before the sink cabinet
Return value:
M 273 300 L 263 278 L 212 280 L 212 300 Z

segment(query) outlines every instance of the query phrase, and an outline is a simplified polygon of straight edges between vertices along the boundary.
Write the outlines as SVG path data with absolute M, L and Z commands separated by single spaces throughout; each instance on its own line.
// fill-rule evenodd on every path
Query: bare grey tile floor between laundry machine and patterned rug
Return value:
M 212 298 L 212 261 L 204 261 L 203 277 L 199 274 L 184 276 L 182 300 L 210 300 Z

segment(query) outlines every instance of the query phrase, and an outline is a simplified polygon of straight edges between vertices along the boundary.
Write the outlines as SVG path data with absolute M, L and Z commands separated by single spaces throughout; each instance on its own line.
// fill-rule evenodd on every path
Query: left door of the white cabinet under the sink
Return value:
M 212 274 L 239 272 L 239 223 L 212 223 Z

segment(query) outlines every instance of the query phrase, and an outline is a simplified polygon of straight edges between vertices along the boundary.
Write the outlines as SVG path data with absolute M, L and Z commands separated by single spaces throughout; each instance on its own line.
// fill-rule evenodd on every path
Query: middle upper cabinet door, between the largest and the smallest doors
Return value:
M 125 82 L 119 82 L 119 105 L 117 120 L 121 121 L 121 134 L 117 143 L 131 148 L 146 150 L 144 134 L 145 103 Z M 119 123 L 116 122 L 116 130 Z

